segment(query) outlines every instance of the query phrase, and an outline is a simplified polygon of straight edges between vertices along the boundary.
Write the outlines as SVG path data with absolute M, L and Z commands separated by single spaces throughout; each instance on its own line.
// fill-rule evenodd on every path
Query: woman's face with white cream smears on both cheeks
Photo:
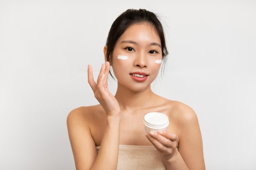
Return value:
M 161 40 L 155 28 L 133 24 L 117 40 L 111 65 L 119 86 L 141 91 L 157 77 L 161 62 Z

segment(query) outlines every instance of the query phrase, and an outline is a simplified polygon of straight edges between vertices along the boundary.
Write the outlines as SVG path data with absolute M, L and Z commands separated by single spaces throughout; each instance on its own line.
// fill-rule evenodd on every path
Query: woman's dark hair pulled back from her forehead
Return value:
M 114 50 L 115 44 L 120 36 L 132 25 L 132 24 L 143 24 L 149 23 L 155 28 L 155 31 L 159 35 L 162 46 L 162 60 L 165 64 L 166 55 L 168 55 L 168 51 L 166 48 L 164 30 L 161 22 L 155 15 L 155 13 L 147 11 L 146 9 L 128 9 L 124 13 L 121 13 L 119 17 L 113 22 L 110 31 L 108 33 L 108 38 L 106 45 L 107 48 L 107 61 L 110 62 L 112 60 L 112 52 Z M 110 73 L 111 75 L 111 73 Z M 111 75 L 112 76 L 112 75 Z M 113 77 L 113 76 L 112 76 Z

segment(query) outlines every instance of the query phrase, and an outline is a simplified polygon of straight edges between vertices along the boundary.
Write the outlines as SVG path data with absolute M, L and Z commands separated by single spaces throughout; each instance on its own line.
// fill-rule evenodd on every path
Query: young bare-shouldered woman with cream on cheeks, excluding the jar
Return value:
M 76 108 L 67 117 L 76 170 L 205 170 L 193 109 L 150 88 L 167 54 L 154 13 L 128 9 L 115 20 L 96 82 L 88 66 L 88 82 L 99 104 Z M 107 87 L 110 66 L 118 84 L 115 96 Z M 150 112 L 168 116 L 166 131 L 145 132 L 143 120 Z

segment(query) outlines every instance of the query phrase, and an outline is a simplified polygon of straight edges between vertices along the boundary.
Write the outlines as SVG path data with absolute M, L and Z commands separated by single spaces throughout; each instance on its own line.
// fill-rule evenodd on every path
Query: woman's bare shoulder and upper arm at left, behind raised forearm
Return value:
M 93 130 L 101 123 L 99 115 L 104 115 L 102 107 L 95 105 L 75 108 L 67 116 L 67 131 L 76 167 L 89 169 L 97 157 L 97 141 L 94 141 Z

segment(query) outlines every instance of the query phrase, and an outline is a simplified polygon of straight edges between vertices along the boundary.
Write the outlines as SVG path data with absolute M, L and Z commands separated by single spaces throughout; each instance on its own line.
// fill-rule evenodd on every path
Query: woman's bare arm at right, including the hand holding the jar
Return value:
M 146 137 L 158 150 L 167 170 L 205 170 L 202 136 L 195 112 L 182 106 L 177 115 L 179 137 L 167 131 L 151 132 Z

